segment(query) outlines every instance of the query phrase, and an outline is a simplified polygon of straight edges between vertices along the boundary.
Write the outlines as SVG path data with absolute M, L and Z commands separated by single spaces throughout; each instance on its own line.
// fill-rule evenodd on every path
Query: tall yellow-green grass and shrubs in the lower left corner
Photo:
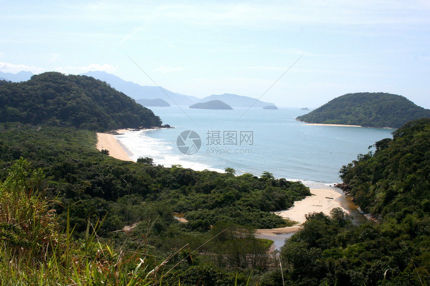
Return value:
M 72 239 L 67 216 L 60 232 L 38 186 L 40 172 L 28 172 L 20 159 L 0 183 L 0 286 L 5 285 L 154 285 L 166 261 L 148 267 L 146 255 L 102 243 L 102 221 L 88 221 L 83 241 Z

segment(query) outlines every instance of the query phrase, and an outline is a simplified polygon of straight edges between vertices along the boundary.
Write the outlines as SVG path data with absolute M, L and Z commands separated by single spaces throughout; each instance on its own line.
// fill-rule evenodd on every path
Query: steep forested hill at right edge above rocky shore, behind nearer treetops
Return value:
M 428 227 L 430 119 L 408 122 L 393 132 L 392 139 L 374 146 L 374 153 L 360 155 L 340 171 L 355 202 L 364 211 L 391 217 L 397 223 L 415 214 L 418 218 L 413 219 L 414 224 L 419 225 L 424 217 Z

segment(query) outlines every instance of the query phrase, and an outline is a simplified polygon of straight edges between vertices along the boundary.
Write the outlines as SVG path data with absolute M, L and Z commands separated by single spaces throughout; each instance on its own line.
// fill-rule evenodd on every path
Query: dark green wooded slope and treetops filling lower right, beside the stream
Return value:
M 308 214 L 281 250 L 286 270 L 265 274 L 261 285 L 428 285 L 430 119 L 406 123 L 375 147 L 340 177 L 377 222 L 355 226 L 340 209 Z

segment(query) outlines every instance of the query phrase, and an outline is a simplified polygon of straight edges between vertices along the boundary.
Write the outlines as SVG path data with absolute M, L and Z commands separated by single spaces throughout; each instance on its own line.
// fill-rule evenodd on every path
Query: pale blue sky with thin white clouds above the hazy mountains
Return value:
M 430 108 L 428 0 L 0 0 L 0 26 L 2 72 L 102 70 L 281 107 L 388 92 Z

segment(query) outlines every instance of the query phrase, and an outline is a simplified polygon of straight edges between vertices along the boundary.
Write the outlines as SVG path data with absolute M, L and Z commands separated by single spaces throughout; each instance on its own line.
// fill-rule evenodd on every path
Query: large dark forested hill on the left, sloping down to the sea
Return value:
M 101 80 L 45 72 L 0 84 L 0 122 L 89 130 L 160 126 L 153 112 Z

